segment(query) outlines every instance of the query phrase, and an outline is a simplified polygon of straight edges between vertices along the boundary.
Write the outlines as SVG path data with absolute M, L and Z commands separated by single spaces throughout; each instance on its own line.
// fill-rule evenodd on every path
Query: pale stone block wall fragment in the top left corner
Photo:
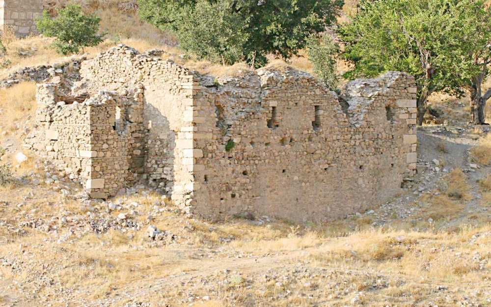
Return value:
M 17 36 L 36 34 L 35 20 L 43 14 L 43 0 L 0 0 L 0 30 L 12 28 Z

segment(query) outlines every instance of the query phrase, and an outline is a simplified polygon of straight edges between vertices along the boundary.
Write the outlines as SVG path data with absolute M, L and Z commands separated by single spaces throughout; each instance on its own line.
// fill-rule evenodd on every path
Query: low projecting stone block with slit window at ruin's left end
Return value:
M 57 84 L 38 85 L 38 129 L 28 136 L 25 147 L 79 181 L 91 197 L 115 195 L 135 179 L 127 155 L 136 137 L 134 129 L 117 119 L 118 110 L 133 103 L 114 92 L 101 91 L 88 99 L 64 97 L 65 101 L 58 93 Z

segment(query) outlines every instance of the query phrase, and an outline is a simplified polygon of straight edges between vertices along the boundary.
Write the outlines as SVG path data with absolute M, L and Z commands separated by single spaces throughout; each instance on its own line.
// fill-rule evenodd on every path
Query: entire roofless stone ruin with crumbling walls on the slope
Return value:
M 216 79 L 119 45 L 38 84 L 25 147 L 107 198 L 145 181 L 209 219 L 321 221 L 387 201 L 416 171 L 404 73 L 337 95 L 290 68 Z

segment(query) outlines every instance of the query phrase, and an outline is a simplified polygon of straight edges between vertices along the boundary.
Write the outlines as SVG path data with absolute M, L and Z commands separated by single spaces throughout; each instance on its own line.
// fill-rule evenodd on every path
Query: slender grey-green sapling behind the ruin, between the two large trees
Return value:
M 339 53 L 339 45 L 327 34 L 312 34 L 307 39 L 307 53 L 316 76 L 321 78 L 329 89 L 338 89 L 336 56 Z

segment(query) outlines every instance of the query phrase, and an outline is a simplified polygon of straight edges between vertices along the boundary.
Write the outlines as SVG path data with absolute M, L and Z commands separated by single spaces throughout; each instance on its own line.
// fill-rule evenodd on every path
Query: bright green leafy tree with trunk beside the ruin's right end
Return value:
M 405 71 L 418 87 L 418 124 L 436 91 L 463 95 L 463 85 L 477 74 L 476 26 L 469 9 L 477 0 L 362 0 L 349 24 L 339 29 L 346 43 L 344 57 L 355 68 L 347 78 L 374 77 Z

